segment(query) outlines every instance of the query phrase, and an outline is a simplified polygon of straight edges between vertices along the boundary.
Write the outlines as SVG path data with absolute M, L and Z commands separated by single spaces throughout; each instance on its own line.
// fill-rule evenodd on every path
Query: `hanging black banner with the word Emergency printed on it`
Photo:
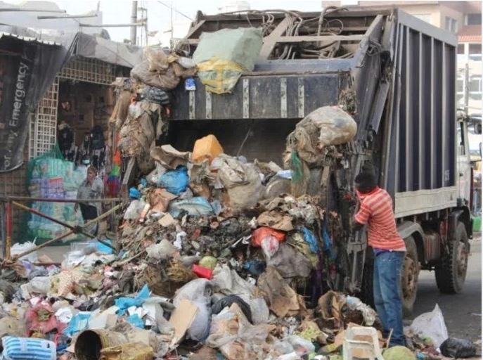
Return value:
M 58 44 L 0 33 L 0 172 L 22 165 L 29 115 L 67 52 Z

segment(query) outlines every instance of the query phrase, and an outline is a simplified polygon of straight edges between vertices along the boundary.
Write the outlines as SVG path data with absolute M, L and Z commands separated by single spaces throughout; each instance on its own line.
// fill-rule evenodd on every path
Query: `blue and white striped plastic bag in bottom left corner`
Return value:
M 13 338 L 1 339 L 4 349 L 1 359 L 5 360 L 56 360 L 56 344 L 44 339 Z

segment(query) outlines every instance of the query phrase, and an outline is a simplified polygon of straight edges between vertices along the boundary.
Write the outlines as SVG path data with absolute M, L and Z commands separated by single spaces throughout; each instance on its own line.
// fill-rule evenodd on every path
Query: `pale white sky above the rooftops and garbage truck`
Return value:
M 22 1 L 6 0 L 9 4 L 20 4 Z M 67 11 L 70 15 L 79 15 L 97 8 L 98 1 L 53 1 L 58 6 Z M 173 22 L 188 21 L 180 13 L 195 18 L 198 10 L 203 13 L 212 15 L 219 13 L 218 8 L 228 4 L 231 1 L 162 1 L 162 3 L 172 6 Z M 320 11 L 321 1 L 248 1 L 254 10 L 264 9 L 283 9 L 299 11 Z M 160 4 L 159 1 L 138 1 L 139 7 L 148 8 L 148 30 L 166 30 L 171 24 L 171 10 L 169 7 Z M 103 12 L 104 24 L 127 24 L 131 23 L 131 1 L 101 1 L 100 6 Z M 110 37 L 114 41 L 123 41 L 129 39 L 129 27 L 110 27 L 107 29 Z M 140 30 L 138 30 L 139 34 Z

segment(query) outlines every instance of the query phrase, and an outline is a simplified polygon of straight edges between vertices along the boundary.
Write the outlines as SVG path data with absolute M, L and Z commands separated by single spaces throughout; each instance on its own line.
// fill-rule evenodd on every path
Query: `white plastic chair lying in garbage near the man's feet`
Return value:
M 370 336 L 372 338 L 372 342 L 356 340 L 358 336 Z M 342 356 L 344 360 L 352 360 L 354 356 L 352 355 L 353 350 L 365 350 L 370 360 L 384 360 L 382 357 L 380 347 L 379 347 L 379 338 L 378 332 L 375 328 L 368 328 L 368 327 L 354 327 L 354 328 L 347 328 L 345 330 L 345 340 L 342 346 Z

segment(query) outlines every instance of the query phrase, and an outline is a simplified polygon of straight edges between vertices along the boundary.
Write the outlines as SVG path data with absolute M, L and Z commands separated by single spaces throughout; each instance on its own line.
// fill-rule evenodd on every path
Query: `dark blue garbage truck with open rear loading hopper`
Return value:
M 371 302 L 373 252 L 366 231 L 351 231 L 354 178 L 371 162 L 406 242 L 406 314 L 420 270 L 434 271 L 442 293 L 460 293 L 472 237 L 472 169 L 470 120 L 456 108 L 455 35 L 397 8 L 198 12 L 176 48 L 191 57 L 202 34 L 245 27 L 263 34 L 255 68 L 231 94 L 213 94 L 199 78 L 195 91 L 176 88 L 172 145 L 191 150 L 196 139 L 214 134 L 230 155 L 281 163 L 298 122 L 323 106 L 343 108 L 356 135 L 337 148 L 337 158 L 311 167 L 307 179 L 309 195 L 320 195 L 342 218 L 337 290 Z

